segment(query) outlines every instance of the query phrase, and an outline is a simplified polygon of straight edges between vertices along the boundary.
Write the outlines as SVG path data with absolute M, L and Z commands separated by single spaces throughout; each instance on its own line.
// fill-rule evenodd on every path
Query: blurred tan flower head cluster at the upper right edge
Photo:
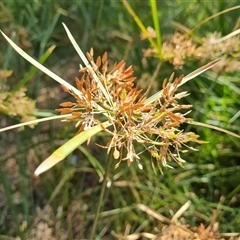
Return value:
M 156 32 L 153 28 L 148 27 L 148 37 L 156 38 Z M 146 36 L 142 34 L 141 39 Z M 172 37 L 163 42 L 162 56 L 164 61 L 169 61 L 175 69 L 182 68 L 186 59 L 195 58 L 203 63 L 214 59 L 221 58 L 219 63 L 213 67 L 213 71 L 233 72 L 239 69 L 239 51 L 240 39 L 239 30 L 221 37 L 221 33 L 208 33 L 206 37 L 198 38 L 198 43 L 189 34 L 175 32 Z M 144 57 L 157 57 L 158 50 L 151 47 L 143 50 Z

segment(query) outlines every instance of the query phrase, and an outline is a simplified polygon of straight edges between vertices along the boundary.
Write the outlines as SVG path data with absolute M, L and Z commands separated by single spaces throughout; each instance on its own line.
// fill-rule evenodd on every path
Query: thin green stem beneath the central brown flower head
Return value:
M 94 239 L 94 236 L 95 236 L 95 233 L 96 233 L 97 222 L 98 222 L 98 218 L 99 218 L 99 214 L 100 214 L 100 210 L 101 210 L 101 205 L 102 205 L 102 201 L 103 201 L 104 192 L 105 192 L 106 185 L 107 185 L 108 175 L 109 175 L 110 168 L 111 168 L 112 158 L 113 157 L 112 157 L 112 150 L 111 150 L 109 155 L 108 155 L 107 168 L 106 168 L 106 171 L 105 171 L 105 174 L 104 174 L 102 188 L 101 188 L 100 196 L 99 196 L 99 199 L 98 199 L 97 211 L 96 211 L 94 222 L 93 222 L 93 228 L 92 228 L 92 231 L 91 231 L 90 240 Z

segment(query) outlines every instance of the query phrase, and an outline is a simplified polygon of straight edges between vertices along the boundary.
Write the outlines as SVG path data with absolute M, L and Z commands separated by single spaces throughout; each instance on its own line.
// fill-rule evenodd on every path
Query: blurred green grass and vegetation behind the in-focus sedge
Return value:
M 149 2 L 129 3 L 144 25 L 153 27 Z M 208 61 L 224 58 L 222 68 L 202 74 L 181 89 L 191 93 L 185 100 L 193 105 L 190 117 L 239 134 L 239 37 L 234 37 L 229 45 L 224 42 L 221 51 L 208 48 L 205 41 L 209 34 L 219 33 L 220 38 L 239 28 L 239 8 L 208 20 L 237 6 L 238 1 L 157 3 L 163 42 L 176 32 L 185 34 L 206 20 L 189 37 L 205 49 L 201 52 L 205 57 L 186 56 L 182 66 L 162 62 L 151 83 L 152 93 L 161 89 L 163 80 L 172 72 L 176 76 L 188 74 Z M 110 65 L 122 59 L 133 65 L 137 83 L 147 89 L 160 60 L 144 57 L 143 49 L 148 49 L 150 44 L 141 40 L 140 29 L 121 1 L 51 0 L 43 4 L 42 1 L 3 0 L 0 3 L 1 30 L 35 59 L 47 58 L 51 53 L 47 60 L 42 60 L 44 65 L 74 84 L 75 77 L 80 76 L 80 59 L 61 22 L 68 26 L 84 52 L 93 47 L 95 56 L 108 52 Z M 59 103 L 70 99 L 54 81 L 39 71 L 34 72 L 3 37 L 0 41 L 1 128 L 31 119 L 29 113 L 34 117 L 49 116 Z M 53 45 L 55 49 L 46 53 Z M 198 152 L 184 155 L 187 161 L 184 168 L 172 163 L 174 169 L 163 169 L 164 175 L 160 172 L 156 175 L 147 154 L 141 158 L 143 170 L 135 165 L 121 164 L 117 170 L 113 166 L 112 185 L 106 191 L 98 224 L 99 239 L 114 238 L 112 231 L 126 236 L 142 232 L 155 235 L 163 231 L 159 239 L 164 236 L 172 239 L 167 234 L 173 230 L 163 228 L 166 222 L 142 211 L 137 204 L 171 219 L 188 200 L 190 207 L 178 219 L 182 225 L 189 225 L 189 229 L 195 227 L 199 232 L 204 229 L 201 223 L 205 227 L 212 224 L 214 231 L 212 227 L 216 228 L 218 222 L 221 233 L 240 232 L 239 139 L 203 127 L 182 127 L 209 142 L 197 146 Z M 94 137 L 89 145 L 82 145 L 42 176 L 33 176 L 36 167 L 74 133 L 73 124 L 60 121 L 0 133 L 1 239 L 88 238 L 101 187 L 98 173 L 105 167 L 107 158 L 106 151 L 95 142 L 106 144 L 105 133 Z

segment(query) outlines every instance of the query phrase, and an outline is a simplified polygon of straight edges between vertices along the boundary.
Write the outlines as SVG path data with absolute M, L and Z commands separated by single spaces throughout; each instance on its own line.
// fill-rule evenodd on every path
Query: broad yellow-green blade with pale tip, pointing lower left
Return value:
M 69 141 L 64 143 L 61 147 L 59 147 L 51 156 L 49 156 L 44 162 L 42 162 L 38 168 L 35 170 L 34 174 L 38 176 L 39 174 L 49 170 L 54 165 L 62 161 L 65 157 L 67 157 L 72 151 L 74 151 L 79 145 L 87 141 L 93 135 L 102 131 L 103 128 L 107 128 L 111 125 L 109 121 L 104 123 L 100 123 L 84 132 L 78 134 L 77 136 L 71 138 Z

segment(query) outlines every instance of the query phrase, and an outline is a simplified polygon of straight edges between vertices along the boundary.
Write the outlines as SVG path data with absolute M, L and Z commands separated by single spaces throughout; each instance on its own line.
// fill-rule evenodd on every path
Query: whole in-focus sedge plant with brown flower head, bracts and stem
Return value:
M 57 115 L 24 123 L 24 125 L 27 125 L 37 121 L 63 118 L 65 122 L 76 122 L 75 126 L 78 129 L 72 139 L 42 162 L 36 169 L 35 175 L 52 168 L 83 142 L 90 141 L 91 137 L 100 131 L 105 131 L 111 136 L 106 145 L 99 145 L 107 149 L 108 163 L 90 236 L 90 239 L 94 239 L 113 160 L 115 161 L 115 168 L 126 162 L 128 166 L 137 164 L 139 169 L 143 169 L 144 163 L 141 161 L 141 154 L 148 152 L 155 172 L 157 169 L 162 172 L 162 167 L 172 168 L 171 161 L 183 166 L 185 160 L 182 158 L 182 153 L 188 150 L 196 151 L 190 143 L 205 143 L 199 140 L 199 136 L 194 132 L 182 130 L 181 125 L 183 123 L 202 125 L 235 137 L 239 136 L 215 126 L 195 122 L 187 117 L 192 106 L 179 102 L 182 98 L 187 97 L 189 93 L 186 91 L 178 92 L 178 87 L 212 68 L 218 63 L 218 59 L 187 76 L 174 77 L 174 74 L 172 74 L 169 79 L 164 80 L 161 91 L 148 97 L 147 92 L 144 93 L 135 86 L 134 81 L 136 78 L 133 76 L 132 66 L 126 67 L 125 62 L 120 61 L 112 68 L 109 68 L 107 53 L 95 59 L 92 49 L 85 56 L 67 26 L 65 24 L 63 26 L 84 63 L 84 66 L 80 65 L 79 71 L 82 73 L 82 77 L 81 79 L 76 78 L 76 87 L 45 68 L 27 55 L 3 32 L 2 34 L 22 57 L 59 82 L 63 90 L 71 94 L 74 99 L 71 102 L 61 103 L 60 108 L 56 109 L 61 116 Z M 103 118 L 105 120 L 102 120 Z M 0 131 L 8 129 L 4 128 L 0 129 Z M 136 144 L 141 146 L 140 151 L 136 150 Z

